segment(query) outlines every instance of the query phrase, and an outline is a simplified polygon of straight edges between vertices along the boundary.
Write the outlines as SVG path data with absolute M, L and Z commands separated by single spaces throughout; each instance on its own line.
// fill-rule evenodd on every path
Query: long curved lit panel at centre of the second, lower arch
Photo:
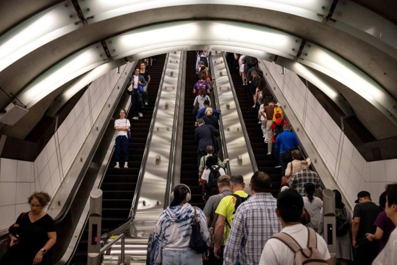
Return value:
M 110 54 L 115 59 L 151 49 L 189 44 L 245 47 L 292 59 L 301 42 L 302 39 L 282 31 L 230 21 L 163 23 L 135 29 L 106 40 Z

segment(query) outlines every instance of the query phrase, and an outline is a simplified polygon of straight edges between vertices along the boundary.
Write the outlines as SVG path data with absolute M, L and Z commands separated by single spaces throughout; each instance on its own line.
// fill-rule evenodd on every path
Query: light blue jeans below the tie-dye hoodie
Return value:
M 202 265 L 201 254 L 195 250 L 163 250 L 164 265 Z

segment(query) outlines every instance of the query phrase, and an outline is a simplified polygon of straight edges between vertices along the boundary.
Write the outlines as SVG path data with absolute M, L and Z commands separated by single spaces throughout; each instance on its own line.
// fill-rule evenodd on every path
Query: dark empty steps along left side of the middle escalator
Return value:
M 197 81 L 196 75 L 196 52 L 188 51 L 186 60 L 186 83 L 185 83 L 185 109 L 183 112 L 183 144 L 181 162 L 181 183 L 189 186 L 192 198 L 189 203 L 202 208 L 202 190 L 198 186 L 198 164 L 197 145 L 194 143 L 196 118 L 192 113 L 193 86 Z

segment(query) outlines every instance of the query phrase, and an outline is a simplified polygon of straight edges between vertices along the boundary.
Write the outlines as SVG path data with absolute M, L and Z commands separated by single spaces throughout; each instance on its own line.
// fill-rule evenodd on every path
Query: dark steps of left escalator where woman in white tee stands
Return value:
M 154 111 L 154 104 L 156 103 L 160 80 L 163 74 L 166 54 L 161 54 L 156 57 L 156 63 L 148 68 L 151 77 L 148 86 L 149 102 L 143 109 L 143 118 L 133 120 L 131 113 L 127 115 L 131 123 L 128 159 L 129 168 L 122 168 L 122 163 L 120 163 L 121 168 L 113 168 L 116 165 L 113 154 L 100 186 L 100 189 L 103 191 L 101 234 L 110 232 L 114 228 L 125 223 L 129 217 L 141 162 L 143 160 L 143 153 L 146 147 L 150 122 Z M 123 159 L 124 155 L 123 152 L 121 152 L 120 160 L 124 161 Z M 85 230 L 70 264 L 87 264 L 87 248 L 88 223 L 85 226 Z

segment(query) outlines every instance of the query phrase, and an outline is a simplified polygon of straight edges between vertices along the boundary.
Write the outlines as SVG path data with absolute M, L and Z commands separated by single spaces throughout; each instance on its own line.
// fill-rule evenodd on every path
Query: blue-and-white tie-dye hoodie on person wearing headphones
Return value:
M 200 208 L 196 208 L 196 211 L 202 239 L 209 246 L 211 238 L 205 215 Z M 150 264 L 161 263 L 162 250 L 190 250 L 193 217 L 194 207 L 189 203 L 162 211 L 154 228 Z

